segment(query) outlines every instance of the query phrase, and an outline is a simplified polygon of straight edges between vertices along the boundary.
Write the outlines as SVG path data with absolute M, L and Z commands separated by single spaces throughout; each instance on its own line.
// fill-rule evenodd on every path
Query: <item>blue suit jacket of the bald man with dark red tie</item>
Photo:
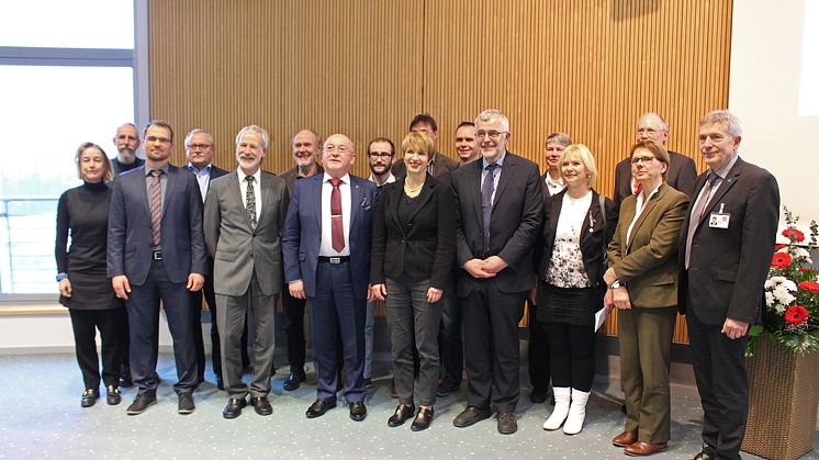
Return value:
M 302 280 L 307 296 L 315 296 L 316 267 L 322 244 L 322 186 L 324 175 L 295 183 L 282 235 L 284 282 Z M 378 187 L 350 176 L 350 268 L 356 298 L 366 298 L 370 282 L 370 239 L 378 205 Z

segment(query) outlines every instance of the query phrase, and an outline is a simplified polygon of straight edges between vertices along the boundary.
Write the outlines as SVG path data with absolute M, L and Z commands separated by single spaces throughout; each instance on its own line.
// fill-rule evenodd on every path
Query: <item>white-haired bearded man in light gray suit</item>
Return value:
M 204 209 L 204 235 L 214 260 L 213 290 L 221 332 L 222 375 L 229 400 L 222 415 L 236 418 L 250 404 L 270 415 L 267 395 L 273 363 L 276 296 L 281 292 L 281 232 L 289 195 L 284 180 L 261 170 L 269 137 L 259 126 L 236 135 L 239 167 L 211 182 Z M 251 308 L 256 332 L 250 388 L 242 381 L 242 333 Z

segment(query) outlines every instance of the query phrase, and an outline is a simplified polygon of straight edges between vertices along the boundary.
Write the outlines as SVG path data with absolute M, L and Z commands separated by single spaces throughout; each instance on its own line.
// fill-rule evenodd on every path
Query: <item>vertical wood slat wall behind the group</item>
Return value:
M 292 166 L 300 128 L 348 134 L 357 149 L 400 144 L 433 114 L 439 148 L 486 108 L 511 121 L 509 149 L 543 164 L 542 143 L 569 133 L 595 154 L 596 189 L 646 111 L 671 126 L 669 148 L 697 154 L 702 115 L 728 104 L 731 0 L 175 0 L 149 4 L 150 116 L 214 133 L 232 168 L 233 137 L 270 133 L 265 169 Z M 367 176 L 359 155 L 354 173 Z M 687 341 L 678 318 L 675 341 Z M 616 317 L 606 325 L 616 334 Z

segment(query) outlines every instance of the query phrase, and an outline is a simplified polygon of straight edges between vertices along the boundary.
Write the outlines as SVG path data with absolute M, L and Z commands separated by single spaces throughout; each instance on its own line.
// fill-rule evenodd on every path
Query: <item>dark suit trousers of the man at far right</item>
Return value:
M 703 324 L 688 307 L 685 315 L 694 378 L 703 404 L 703 441 L 717 458 L 739 459 L 748 418 L 748 336 L 730 339 L 722 325 Z

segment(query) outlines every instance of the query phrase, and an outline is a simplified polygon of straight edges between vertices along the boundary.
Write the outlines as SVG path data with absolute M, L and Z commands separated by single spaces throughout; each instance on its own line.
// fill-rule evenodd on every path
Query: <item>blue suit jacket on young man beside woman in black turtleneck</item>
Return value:
M 141 285 L 153 263 L 150 211 L 145 167 L 132 169 L 114 182 L 108 220 L 108 277 L 128 277 Z M 165 270 L 171 282 L 186 282 L 190 273 L 207 273 L 202 236 L 202 197 L 193 175 L 168 166 L 161 220 Z

